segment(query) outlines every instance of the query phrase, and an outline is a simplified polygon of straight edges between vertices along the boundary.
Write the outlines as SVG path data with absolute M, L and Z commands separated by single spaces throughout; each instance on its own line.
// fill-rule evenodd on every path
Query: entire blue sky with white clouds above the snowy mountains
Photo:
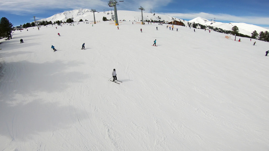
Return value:
M 74 9 L 95 9 L 98 12 L 109 11 L 108 1 L 104 0 L 1 0 L 0 17 L 6 17 L 14 26 L 48 18 L 52 15 Z M 118 10 L 139 11 L 167 14 L 185 20 L 202 17 L 230 23 L 247 23 L 269 29 L 268 0 L 237 1 L 198 1 L 198 0 L 124 0 Z

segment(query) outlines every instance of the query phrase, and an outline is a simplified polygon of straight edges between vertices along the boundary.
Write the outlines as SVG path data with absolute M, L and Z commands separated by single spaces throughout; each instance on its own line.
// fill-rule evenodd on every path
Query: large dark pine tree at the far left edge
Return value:
M 0 20 L 0 37 L 12 39 L 12 27 L 13 25 L 10 23 L 10 21 L 6 17 L 2 17 Z

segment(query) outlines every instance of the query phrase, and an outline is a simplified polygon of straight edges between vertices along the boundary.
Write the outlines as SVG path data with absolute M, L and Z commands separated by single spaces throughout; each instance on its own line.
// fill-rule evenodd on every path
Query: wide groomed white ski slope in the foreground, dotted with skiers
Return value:
M 57 27 L 0 45 L 0 150 L 269 149 L 269 43 L 132 21 Z

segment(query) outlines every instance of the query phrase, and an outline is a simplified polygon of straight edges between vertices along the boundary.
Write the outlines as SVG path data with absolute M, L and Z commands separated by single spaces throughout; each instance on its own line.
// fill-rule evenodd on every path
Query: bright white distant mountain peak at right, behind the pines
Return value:
M 244 35 L 249 35 L 251 36 L 251 33 L 256 30 L 258 33 L 263 31 L 269 31 L 268 29 L 256 26 L 256 25 L 251 25 L 251 24 L 246 24 L 246 23 L 221 23 L 221 22 L 214 22 L 214 21 L 208 21 L 206 19 L 197 17 L 193 20 L 190 20 L 189 22 L 191 23 L 199 23 L 201 25 L 206 25 L 206 26 L 212 26 L 212 27 L 217 27 L 217 28 L 222 28 L 224 30 L 232 30 L 234 26 L 237 26 L 239 29 L 239 33 L 244 34 Z

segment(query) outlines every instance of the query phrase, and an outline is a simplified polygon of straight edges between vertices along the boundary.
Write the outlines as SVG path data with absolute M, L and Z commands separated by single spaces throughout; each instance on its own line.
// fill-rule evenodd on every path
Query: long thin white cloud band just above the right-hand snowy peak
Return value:
M 269 25 L 269 17 L 255 17 L 255 16 L 233 16 L 228 14 L 208 14 L 208 13 L 166 13 L 173 17 L 181 19 L 192 20 L 196 17 L 205 18 L 207 20 L 217 20 L 223 22 L 236 22 L 236 23 L 247 23 L 255 25 Z

